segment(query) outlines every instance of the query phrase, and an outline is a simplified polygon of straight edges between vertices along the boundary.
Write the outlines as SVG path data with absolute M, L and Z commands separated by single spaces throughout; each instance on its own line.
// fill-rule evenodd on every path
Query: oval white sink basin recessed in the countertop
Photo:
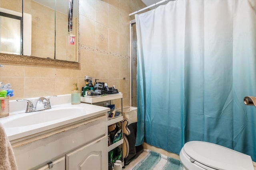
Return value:
M 42 111 L 35 111 L 31 113 L 25 113 L 26 116 L 24 117 L 17 117 L 16 119 L 6 121 L 5 123 L 3 123 L 3 126 L 22 127 L 29 125 L 37 125 L 46 122 L 48 123 L 50 121 L 58 121 L 61 119 L 65 119 L 67 117 L 81 114 L 83 110 L 83 107 L 61 107 Z

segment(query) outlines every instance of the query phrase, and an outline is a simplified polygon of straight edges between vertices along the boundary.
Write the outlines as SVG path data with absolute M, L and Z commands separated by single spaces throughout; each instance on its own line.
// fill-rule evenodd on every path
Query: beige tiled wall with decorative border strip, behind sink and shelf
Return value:
M 123 93 L 124 107 L 130 106 L 129 23 L 134 16 L 129 14 L 144 7 L 141 0 L 81 0 L 81 69 L 3 64 L 0 82 L 12 84 L 10 100 L 70 94 L 74 83 L 79 89 L 85 86 L 87 75 L 115 85 Z M 114 104 L 120 107 L 120 100 Z

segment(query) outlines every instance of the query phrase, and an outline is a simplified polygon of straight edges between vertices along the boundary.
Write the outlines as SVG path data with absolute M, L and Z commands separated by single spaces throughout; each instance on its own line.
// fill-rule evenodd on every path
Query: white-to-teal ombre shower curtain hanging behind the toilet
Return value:
M 136 145 L 207 141 L 256 161 L 256 1 L 176 0 L 138 14 Z

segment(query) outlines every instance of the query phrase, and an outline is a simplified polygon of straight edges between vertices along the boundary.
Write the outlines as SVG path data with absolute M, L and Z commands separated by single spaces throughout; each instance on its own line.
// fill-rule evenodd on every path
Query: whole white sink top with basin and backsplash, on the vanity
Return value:
M 35 104 L 38 98 L 30 98 Z M 10 141 L 40 135 L 41 132 L 66 126 L 70 123 L 85 120 L 110 110 L 92 104 L 71 104 L 71 94 L 57 96 L 51 99 L 51 109 L 25 113 L 26 102 L 10 100 L 10 115 L 0 118 L 6 136 Z M 23 139 L 22 139 L 23 140 Z

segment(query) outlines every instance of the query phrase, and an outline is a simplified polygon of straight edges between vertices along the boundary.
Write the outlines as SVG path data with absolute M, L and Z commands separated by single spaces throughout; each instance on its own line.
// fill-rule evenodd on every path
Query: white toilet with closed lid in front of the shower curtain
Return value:
M 180 161 L 185 170 L 254 170 L 251 156 L 203 141 L 185 143 Z

